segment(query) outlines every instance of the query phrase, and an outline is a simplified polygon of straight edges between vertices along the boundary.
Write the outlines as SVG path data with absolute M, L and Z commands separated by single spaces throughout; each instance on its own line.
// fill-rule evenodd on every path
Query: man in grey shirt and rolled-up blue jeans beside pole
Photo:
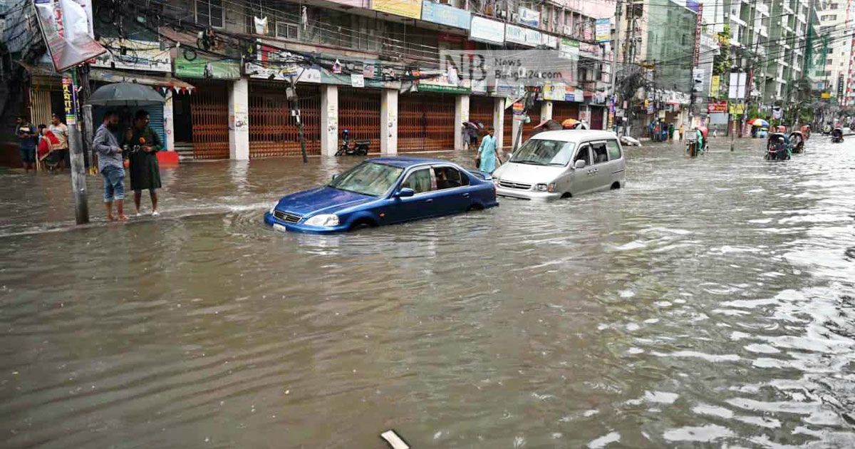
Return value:
M 119 141 L 115 133 L 119 129 L 119 115 L 108 112 L 103 123 L 95 133 L 92 144 L 98 155 L 98 171 L 104 179 L 104 206 L 107 208 L 107 220 L 127 221 L 125 216 L 125 163 L 121 157 Z M 113 217 L 113 202 L 117 217 Z

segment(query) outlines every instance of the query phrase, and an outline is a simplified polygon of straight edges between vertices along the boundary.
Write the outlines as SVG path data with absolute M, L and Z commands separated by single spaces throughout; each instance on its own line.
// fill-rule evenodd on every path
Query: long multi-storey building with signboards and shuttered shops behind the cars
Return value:
M 91 64 L 91 80 L 162 92 L 152 124 L 170 150 L 196 158 L 297 154 L 293 81 L 310 154 L 333 154 L 343 129 L 372 152 L 395 153 L 460 148 L 468 120 L 496 127 L 505 147 L 516 127 L 528 137 L 547 118 L 605 126 L 610 55 L 595 20 L 614 15 L 608 1 L 95 0 L 94 9 L 94 34 L 109 51 Z M 30 14 L 20 9 L 16 21 Z M 44 53 L 36 41 L 25 46 Z M 519 90 L 438 70 L 442 50 L 532 49 L 566 50 L 576 71 L 540 93 L 524 124 L 511 120 Z M 39 56 L 16 55 L 29 55 L 34 80 Z M 56 86 L 22 87 L 33 121 L 50 116 Z

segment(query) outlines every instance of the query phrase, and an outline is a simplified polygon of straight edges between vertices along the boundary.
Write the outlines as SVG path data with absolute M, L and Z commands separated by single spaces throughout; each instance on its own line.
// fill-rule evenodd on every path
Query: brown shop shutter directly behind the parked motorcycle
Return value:
M 369 152 L 380 152 L 380 91 L 339 87 L 339 139 L 345 129 L 351 139 L 370 140 Z

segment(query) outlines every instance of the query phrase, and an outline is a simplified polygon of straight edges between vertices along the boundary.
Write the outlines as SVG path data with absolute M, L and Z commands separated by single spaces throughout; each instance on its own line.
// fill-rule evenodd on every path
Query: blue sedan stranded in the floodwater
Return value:
M 264 222 L 283 231 L 332 233 L 497 205 L 488 174 L 439 159 L 379 157 L 326 186 L 281 198 Z

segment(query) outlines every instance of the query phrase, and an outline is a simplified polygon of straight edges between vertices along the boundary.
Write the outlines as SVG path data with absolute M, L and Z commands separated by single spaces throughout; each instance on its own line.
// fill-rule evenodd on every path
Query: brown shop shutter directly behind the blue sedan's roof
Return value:
M 409 93 L 398 97 L 398 151 L 454 149 L 454 96 Z

